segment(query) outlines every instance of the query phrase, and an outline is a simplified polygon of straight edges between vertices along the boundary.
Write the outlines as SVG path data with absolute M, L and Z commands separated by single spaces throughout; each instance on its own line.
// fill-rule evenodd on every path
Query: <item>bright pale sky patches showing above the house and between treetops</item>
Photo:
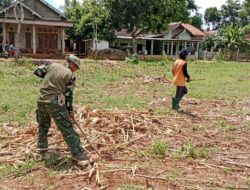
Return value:
M 63 0 L 46 0 L 54 7 L 58 8 L 60 5 L 63 5 Z M 243 2 L 243 0 L 240 0 Z M 195 0 L 196 5 L 200 7 L 199 12 L 204 14 L 206 8 L 208 7 L 217 7 L 220 9 L 222 4 L 225 4 L 226 0 Z

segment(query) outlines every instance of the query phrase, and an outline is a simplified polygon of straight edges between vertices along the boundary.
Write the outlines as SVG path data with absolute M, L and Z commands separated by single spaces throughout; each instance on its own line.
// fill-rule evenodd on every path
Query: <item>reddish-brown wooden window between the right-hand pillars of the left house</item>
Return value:
M 39 49 L 58 49 L 57 34 L 39 33 L 38 34 Z

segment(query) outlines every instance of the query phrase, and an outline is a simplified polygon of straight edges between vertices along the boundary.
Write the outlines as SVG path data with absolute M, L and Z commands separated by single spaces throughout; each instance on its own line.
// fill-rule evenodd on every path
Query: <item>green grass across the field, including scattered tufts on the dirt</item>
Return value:
M 63 61 L 61 61 L 63 62 Z M 77 86 L 75 89 L 75 105 L 89 105 L 93 109 L 119 108 L 129 110 L 137 108 L 147 110 L 149 103 L 157 98 L 171 99 L 175 93 L 175 87 L 163 83 L 144 83 L 143 77 L 166 77 L 172 79 L 172 64 L 162 62 L 140 62 L 138 65 L 122 63 L 119 66 L 105 66 L 89 60 L 82 60 L 82 67 L 76 73 Z M 33 75 L 37 66 L 21 60 L 16 64 L 9 60 L 0 59 L 0 126 L 4 123 L 16 122 L 25 127 L 35 122 L 36 100 L 41 86 L 41 80 Z M 204 78 L 188 84 L 188 98 L 198 99 L 225 99 L 235 103 L 249 98 L 250 80 L 249 63 L 236 62 L 202 62 L 193 61 L 188 63 L 188 70 L 191 78 Z M 165 103 L 157 105 L 156 113 L 171 114 L 171 107 Z M 230 112 L 230 110 L 228 110 Z M 231 111 L 232 112 L 232 111 Z M 243 111 L 242 111 L 243 112 Z M 244 126 L 250 129 L 250 123 Z M 194 125 L 193 132 L 206 130 L 210 126 Z M 225 118 L 219 118 L 216 128 L 221 130 L 224 137 L 230 140 L 235 138 L 233 132 L 235 126 L 226 123 Z M 0 134 L 4 129 L 0 127 Z M 6 140 L 0 139 L 1 147 L 5 146 Z M 175 159 L 196 159 L 208 158 L 215 148 L 197 147 L 192 142 L 184 142 L 173 152 L 168 150 L 168 144 L 162 141 L 155 141 L 145 150 L 138 152 L 138 157 L 149 155 L 164 157 L 166 154 Z M 58 155 L 50 155 L 44 162 L 47 167 L 48 176 L 54 178 L 58 173 L 72 167 L 70 161 L 65 161 Z M 61 164 L 64 163 L 64 164 Z M 6 176 L 22 176 L 29 171 L 41 166 L 41 163 L 28 159 L 17 167 L 9 164 L 0 164 L 0 180 Z M 166 173 L 166 180 L 178 181 L 182 172 L 178 170 Z M 30 178 L 30 183 L 35 183 Z M 246 181 L 249 186 L 249 179 Z M 48 184 L 48 187 L 51 184 Z M 140 190 L 141 186 L 135 184 L 121 185 L 120 190 Z

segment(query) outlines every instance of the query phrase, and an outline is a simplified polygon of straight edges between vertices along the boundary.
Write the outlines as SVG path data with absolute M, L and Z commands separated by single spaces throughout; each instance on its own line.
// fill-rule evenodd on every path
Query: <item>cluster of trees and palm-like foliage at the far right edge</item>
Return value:
M 249 51 L 250 39 L 250 0 L 227 0 L 221 9 L 210 7 L 204 14 L 208 30 L 216 30 L 217 35 L 208 35 L 203 43 L 203 48 L 208 51 L 229 50 L 232 52 Z M 248 52 L 250 53 L 250 52 Z

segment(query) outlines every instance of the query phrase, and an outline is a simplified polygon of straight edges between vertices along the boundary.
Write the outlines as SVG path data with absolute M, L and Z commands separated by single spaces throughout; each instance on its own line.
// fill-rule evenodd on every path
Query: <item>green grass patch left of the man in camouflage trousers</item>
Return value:
M 30 122 L 40 84 L 40 80 L 33 75 L 34 69 L 32 65 L 0 62 L 0 123 Z

